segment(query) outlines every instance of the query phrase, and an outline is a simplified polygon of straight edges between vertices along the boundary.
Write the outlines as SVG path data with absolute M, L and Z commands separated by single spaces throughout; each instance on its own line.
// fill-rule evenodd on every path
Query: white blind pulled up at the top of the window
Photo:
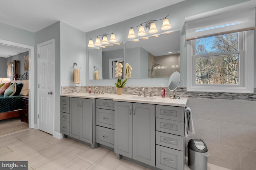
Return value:
M 185 18 L 186 40 L 255 29 L 256 1 L 251 0 Z

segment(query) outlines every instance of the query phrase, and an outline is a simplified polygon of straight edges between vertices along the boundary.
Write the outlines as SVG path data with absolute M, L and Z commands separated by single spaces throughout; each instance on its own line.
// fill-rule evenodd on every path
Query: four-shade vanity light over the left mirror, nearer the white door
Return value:
M 109 44 L 107 35 L 111 35 L 110 39 L 109 39 L 109 42 L 116 43 L 116 35 L 114 34 L 114 32 L 112 32 L 110 34 L 102 34 L 102 35 L 98 35 L 94 38 L 90 38 L 89 43 L 88 43 L 88 47 L 95 47 L 95 45 L 96 46 L 101 46 L 102 44 Z M 100 42 L 100 37 L 102 39 L 101 42 Z M 95 44 L 93 43 L 93 39 L 96 39 Z

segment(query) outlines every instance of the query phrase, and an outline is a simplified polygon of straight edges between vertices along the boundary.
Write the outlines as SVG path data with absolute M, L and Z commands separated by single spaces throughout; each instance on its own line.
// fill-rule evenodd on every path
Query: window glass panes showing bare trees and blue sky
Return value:
M 240 84 L 239 61 L 243 51 L 238 51 L 242 45 L 238 46 L 237 32 L 194 41 L 195 84 Z

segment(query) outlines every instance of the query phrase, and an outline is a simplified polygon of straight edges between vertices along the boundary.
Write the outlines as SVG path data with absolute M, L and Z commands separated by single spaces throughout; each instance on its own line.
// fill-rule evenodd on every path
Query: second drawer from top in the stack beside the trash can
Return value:
M 156 131 L 183 136 L 184 123 L 181 121 L 156 118 Z

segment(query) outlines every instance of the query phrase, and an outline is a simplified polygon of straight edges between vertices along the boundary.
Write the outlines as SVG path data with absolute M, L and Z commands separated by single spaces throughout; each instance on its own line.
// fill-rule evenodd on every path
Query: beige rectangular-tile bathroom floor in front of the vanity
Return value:
M 150 170 L 128 160 L 118 160 L 114 152 L 102 147 L 91 149 L 36 129 L 0 137 L 0 160 L 28 160 L 29 170 Z M 208 165 L 208 170 L 228 170 Z M 186 165 L 185 170 L 190 168 Z

